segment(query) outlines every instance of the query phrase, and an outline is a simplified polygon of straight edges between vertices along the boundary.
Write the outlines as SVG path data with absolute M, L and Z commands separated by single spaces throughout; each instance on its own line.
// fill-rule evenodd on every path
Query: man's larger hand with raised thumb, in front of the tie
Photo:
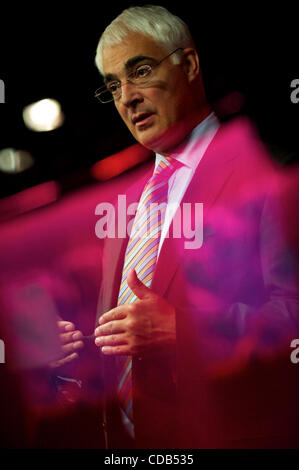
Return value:
M 174 345 L 175 309 L 146 287 L 131 270 L 128 286 L 138 297 L 103 314 L 95 330 L 95 344 L 103 354 L 142 355 L 153 348 Z

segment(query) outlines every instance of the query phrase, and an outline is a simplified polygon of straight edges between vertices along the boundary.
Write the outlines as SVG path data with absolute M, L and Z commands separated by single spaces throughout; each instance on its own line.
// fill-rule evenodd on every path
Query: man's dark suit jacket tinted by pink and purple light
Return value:
M 125 175 L 127 204 L 152 171 L 150 162 Z M 170 229 L 154 273 L 151 288 L 176 308 L 177 342 L 133 358 L 137 447 L 298 444 L 296 253 L 278 188 L 247 120 L 222 125 L 182 200 L 203 203 L 203 244 L 186 249 Z M 117 305 L 127 242 L 105 241 L 99 315 Z M 114 359 L 102 359 L 110 446 L 121 447 Z

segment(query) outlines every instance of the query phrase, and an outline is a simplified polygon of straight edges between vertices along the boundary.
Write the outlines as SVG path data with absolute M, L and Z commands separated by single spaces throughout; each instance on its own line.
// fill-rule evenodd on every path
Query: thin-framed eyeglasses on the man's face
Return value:
M 132 83 L 133 85 L 142 88 L 143 86 L 148 85 L 151 80 L 155 77 L 156 68 L 168 57 L 170 57 L 175 52 L 183 50 L 182 47 L 178 47 L 175 51 L 172 51 L 166 57 L 163 57 L 159 62 L 153 64 L 141 64 L 137 65 L 132 72 L 127 76 L 127 80 L 124 83 Z M 123 83 L 123 84 L 124 84 Z M 101 103 L 110 103 L 111 101 L 116 101 L 121 97 L 121 87 L 122 83 L 119 80 L 113 80 L 107 85 L 104 85 L 98 88 L 95 92 L 95 97 Z

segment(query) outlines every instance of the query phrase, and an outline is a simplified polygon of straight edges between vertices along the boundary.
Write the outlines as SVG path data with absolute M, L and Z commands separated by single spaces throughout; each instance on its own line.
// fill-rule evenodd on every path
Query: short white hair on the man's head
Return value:
M 186 23 L 166 8 L 158 5 L 130 7 L 117 16 L 100 37 L 95 63 L 102 75 L 104 48 L 120 44 L 131 31 L 150 36 L 169 53 L 179 47 L 194 47 Z M 174 54 L 172 60 L 179 63 L 179 55 Z

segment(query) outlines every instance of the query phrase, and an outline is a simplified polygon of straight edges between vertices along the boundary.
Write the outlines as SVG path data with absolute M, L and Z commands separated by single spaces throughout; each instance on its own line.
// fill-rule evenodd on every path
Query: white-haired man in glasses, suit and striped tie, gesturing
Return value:
M 165 8 L 125 10 L 96 64 L 98 98 L 156 154 L 125 175 L 135 222 L 103 252 L 95 344 L 107 446 L 294 445 L 295 266 L 263 146 L 245 119 L 219 125 L 189 30 Z M 164 209 L 142 232 L 157 188 Z

